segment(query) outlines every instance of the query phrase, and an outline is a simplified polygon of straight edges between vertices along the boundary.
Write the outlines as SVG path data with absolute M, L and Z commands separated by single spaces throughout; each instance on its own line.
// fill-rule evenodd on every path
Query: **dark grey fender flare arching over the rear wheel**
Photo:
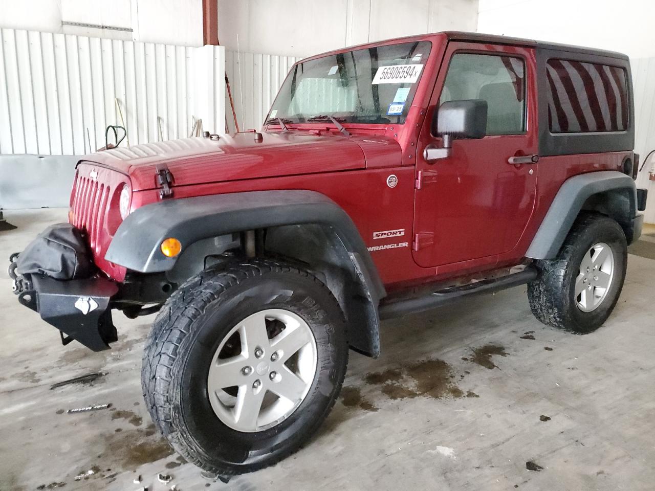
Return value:
M 593 198 L 598 196 L 597 200 Z M 532 259 L 557 256 L 573 222 L 584 209 L 614 218 L 626 232 L 628 244 L 635 234 L 637 187 L 628 175 L 608 170 L 575 175 L 564 181 L 525 253 Z

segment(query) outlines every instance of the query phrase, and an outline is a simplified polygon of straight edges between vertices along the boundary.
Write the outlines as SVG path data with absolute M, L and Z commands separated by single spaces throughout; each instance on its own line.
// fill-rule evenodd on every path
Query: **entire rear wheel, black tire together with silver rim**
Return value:
M 578 334 L 603 325 L 626 278 L 623 229 L 609 217 L 585 214 L 574 223 L 559 255 L 538 261 L 539 277 L 528 285 L 534 316 Z

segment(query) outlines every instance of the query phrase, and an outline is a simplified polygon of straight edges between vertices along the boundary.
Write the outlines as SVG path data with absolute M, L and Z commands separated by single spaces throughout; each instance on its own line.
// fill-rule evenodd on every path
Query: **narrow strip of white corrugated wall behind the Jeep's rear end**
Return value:
M 632 82 L 635 92 L 635 152 L 646 158 L 655 150 L 655 58 L 637 58 L 630 60 Z M 646 202 L 646 223 L 655 223 L 655 181 L 648 179 L 648 171 L 655 162 L 651 156 L 644 170 L 637 177 L 637 187 L 648 189 L 650 196 Z M 642 162 L 639 164 L 641 167 Z

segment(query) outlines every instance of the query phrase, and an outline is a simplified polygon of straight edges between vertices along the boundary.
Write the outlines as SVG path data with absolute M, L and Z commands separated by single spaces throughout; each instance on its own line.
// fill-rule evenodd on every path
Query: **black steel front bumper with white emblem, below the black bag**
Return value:
M 16 255 L 12 255 L 12 264 L 15 259 Z M 102 351 L 117 340 L 109 308 L 109 300 L 119 291 L 116 283 L 102 276 L 84 280 L 54 280 L 41 274 L 20 276 L 15 266 L 9 267 L 9 274 L 18 301 L 59 329 L 64 344 L 77 340 L 87 348 Z

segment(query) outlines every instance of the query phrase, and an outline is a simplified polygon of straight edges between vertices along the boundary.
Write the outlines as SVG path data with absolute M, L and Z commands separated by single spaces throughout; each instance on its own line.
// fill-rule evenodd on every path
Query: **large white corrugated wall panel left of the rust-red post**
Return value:
M 83 155 L 107 124 L 130 145 L 189 136 L 193 118 L 225 128 L 221 46 L 0 29 L 0 48 L 0 153 Z

